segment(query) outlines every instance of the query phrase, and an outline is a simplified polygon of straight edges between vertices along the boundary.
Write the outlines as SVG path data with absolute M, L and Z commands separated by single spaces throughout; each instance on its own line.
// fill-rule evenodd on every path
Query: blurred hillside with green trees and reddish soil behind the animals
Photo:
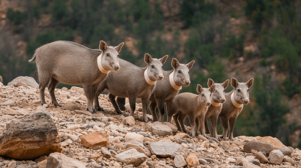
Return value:
M 301 148 L 300 0 L 0 0 L 3 84 L 18 76 L 39 82 L 28 60 L 56 40 L 92 49 L 100 40 L 124 42 L 120 58 L 141 67 L 145 53 L 169 55 L 164 70 L 172 69 L 172 58 L 195 60 L 181 92 L 197 93 L 208 78 L 254 78 L 234 137 L 272 136 Z

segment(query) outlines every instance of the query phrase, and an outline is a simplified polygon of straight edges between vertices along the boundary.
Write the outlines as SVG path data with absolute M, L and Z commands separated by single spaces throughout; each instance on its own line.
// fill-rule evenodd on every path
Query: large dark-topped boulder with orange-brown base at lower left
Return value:
M 31 160 L 61 152 L 57 128 L 46 112 L 33 113 L 6 125 L 0 137 L 0 155 Z

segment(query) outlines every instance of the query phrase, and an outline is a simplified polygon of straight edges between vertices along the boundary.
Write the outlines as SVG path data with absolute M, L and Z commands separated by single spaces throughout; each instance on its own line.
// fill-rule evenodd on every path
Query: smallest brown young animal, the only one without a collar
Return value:
M 201 85 L 197 85 L 197 92 L 199 95 L 185 92 L 175 96 L 172 102 L 172 114 L 175 120 L 175 124 L 178 127 L 178 131 L 182 130 L 187 133 L 184 126 L 184 119 L 188 115 L 191 124 L 191 136 L 195 137 L 195 132 L 198 133 L 199 125 L 204 126 L 205 113 L 211 105 L 210 95 L 215 92 L 215 84 L 210 88 L 202 88 Z M 179 125 L 181 124 L 181 127 Z M 206 137 L 206 135 L 203 135 Z

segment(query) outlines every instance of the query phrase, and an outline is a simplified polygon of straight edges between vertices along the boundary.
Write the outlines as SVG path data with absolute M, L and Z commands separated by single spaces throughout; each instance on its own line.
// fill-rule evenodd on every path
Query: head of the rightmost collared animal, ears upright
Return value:
M 231 85 L 234 87 L 234 92 L 232 93 L 234 96 L 235 102 L 238 104 L 247 105 L 249 100 L 249 88 L 253 85 L 253 78 L 244 82 L 238 82 L 237 79 L 231 79 Z

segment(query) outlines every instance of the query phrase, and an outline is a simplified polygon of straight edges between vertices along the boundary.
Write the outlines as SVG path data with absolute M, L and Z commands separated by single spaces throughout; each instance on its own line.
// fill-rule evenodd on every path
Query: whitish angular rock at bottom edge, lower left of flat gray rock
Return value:
M 117 161 L 125 163 L 127 165 L 132 164 L 139 166 L 141 163 L 146 161 L 147 156 L 145 156 L 143 153 L 138 152 L 136 149 L 130 149 L 115 155 L 115 158 L 117 159 Z

